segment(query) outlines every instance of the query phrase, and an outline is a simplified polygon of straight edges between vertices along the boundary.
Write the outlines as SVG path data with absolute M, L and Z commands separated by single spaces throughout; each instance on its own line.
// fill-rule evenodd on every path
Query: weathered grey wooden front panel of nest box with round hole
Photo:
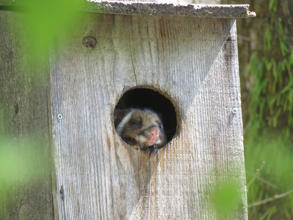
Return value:
M 95 48 L 82 44 L 88 35 Z M 59 219 L 221 219 L 210 199 L 225 182 L 237 182 L 241 204 L 224 219 L 247 219 L 235 20 L 85 14 L 50 63 Z M 151 161 L 113 126 L 137 86 L 178 114 Z

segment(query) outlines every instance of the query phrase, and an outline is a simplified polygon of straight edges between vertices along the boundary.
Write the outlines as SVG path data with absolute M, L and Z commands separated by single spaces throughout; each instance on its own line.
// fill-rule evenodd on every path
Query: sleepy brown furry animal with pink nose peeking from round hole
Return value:
M 149 109 L 116 108 L 114 125 L 123 141 L 145 150 L 147 155 L 153 156 L 167 143 L 160 117 Z

